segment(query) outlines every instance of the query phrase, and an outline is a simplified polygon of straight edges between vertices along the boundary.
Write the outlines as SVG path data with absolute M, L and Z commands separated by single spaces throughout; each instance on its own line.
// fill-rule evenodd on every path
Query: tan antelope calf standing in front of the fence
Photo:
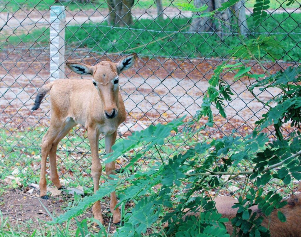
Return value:
M 119 74 L 129 69 L 135 62 L 136 53 L 123 57 L 118 63 L 103 61 L 95 66 L 82 63 L 66 63 L 80 75 L 91 75 L 92 80 L 59 79 L 39 89 L 32 110 L 39 108 L 43 97 L 49 91 L 51 99 L 50 127 L 42 139 L 41 176 L 39 187 L 40 197 L 48 199 L 46 191 L 46 160 L 49 154 L 50 177 L 52 183 L 62 187 L 56 165 L 56 151 L 59 141 L 77 124 L 87 129 L 88 140 L 92 153 L 92 178 L 94 193 L 98 190 L 102 166 L 98 157 L 99 135 L 105 136 L 106 153 L 111 152 L 115 143 L 117 128 L 126 119 L 126 110 L 119 93 Z M 115 162 L 106 164 L 109 179 L 115 171 Z M 120 222 L 120 212 L 115 192 L 110 194 L 110 210 L 113 223 Z M 101 204 L 96 202 L 92 208 L 94 218 L 104 223 Z

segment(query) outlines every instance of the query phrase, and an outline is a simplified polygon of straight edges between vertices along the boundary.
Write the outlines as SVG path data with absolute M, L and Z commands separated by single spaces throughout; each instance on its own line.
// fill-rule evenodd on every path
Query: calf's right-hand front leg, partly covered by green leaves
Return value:
M 112 148 L 113 144 L 115 143 L 116 135 L 117 135 L 117 132 L 114 132 L 111 135 L 105 136 L 106 153 L 110 153 L 112 151 L 111 148 Z M 115 161 L 106 164 L 106 174 L 108 176 L 108 179 L 113 179 L 110 177 L 110 175 L 113 175 L 114 173 L 115 173 Z M 110 211 L 111 211 L 111 213 L 113 213 L 113 223 L 117 224 L 120 222 L 121 218 L 120 218 L 119 208 L 115 209 L 115 206 L 117 204 L 116 193 L 112 192 L 110 196 L 111 196 Z

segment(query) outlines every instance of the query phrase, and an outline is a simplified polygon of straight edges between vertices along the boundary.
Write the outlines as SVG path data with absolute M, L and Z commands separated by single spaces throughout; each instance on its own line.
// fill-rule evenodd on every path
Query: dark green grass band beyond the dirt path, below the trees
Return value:
M 259 33 L 270 32 L 272 36 L 281 40 L 284 44 L 284 50 L 278 50 L 277 53 L 283 56 L 281 59 L 286 61 L 296 61 L 300 59 L 301 43 L 296 40 L 301 33 L 298 26 L 301 22 L 301 14 L 273 14 L 268 17 L 262 26 L 252 30 L 253 19 L 248 18 L 247 24 L 250 26 L 253 36 L 258 37 Z M 236 36 L 222 35 L 222 40 L 217 34 L 185 33 L 189 31 L 189 24 L 184 18 L 163 20 L 160 22 L 149 19 L 141 19 L 132 26 L 135 30 L 111 29 L 107 23 L 100 25 L 84 24 L 79 26 L 67 26 L 65 29 L 65 40 L 68 46 L 73 48 L 87 48 L 100 54 L 106 53 L 130 53 L 135 51 L 140 55 L 156 56 L 178 56 L 178 57 L 206 57 L 220 58 L 227 55 L 227 50 L 231 46 L 239 43 Z M 296 28 L 296 29 L 295 29 Z M 177 32 L 181 29 L 181 32 Z M 152 32 L 150 30 L 159 31 Z M 161 32 L 163 31 L 163 32 Z M 174 32 L 177 33 L 169 33 Z M 287 35 L 286 32 L 290 32 Z M 253 39 L 252 36 L 249 39 Z M 0 40 L 4 40 L 0 36 Z M 29 34 L 21 33 L 12 35 L 2 47 L 17 46 L 23 42 L 27 47 L 36 45 L 47 46 L 49 44 L 49 29 L 33 29 Z M 270 60 L 271 58 L 264 58 Z

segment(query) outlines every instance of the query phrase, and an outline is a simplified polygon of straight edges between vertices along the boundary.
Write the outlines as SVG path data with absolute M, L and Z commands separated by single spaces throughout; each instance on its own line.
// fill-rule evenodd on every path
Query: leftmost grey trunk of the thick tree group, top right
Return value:
M 194 0 L 194 5 L 199 8 L 204 4 L 207 4 L 209 7 L 206 9 L 206 12 L 214 10 L 214 0 Z M 190 31 L 197 32 L 207 32 L 213 31 L 212 20 L 209 17 L 197 17 L 194 18 L 191 22 Z

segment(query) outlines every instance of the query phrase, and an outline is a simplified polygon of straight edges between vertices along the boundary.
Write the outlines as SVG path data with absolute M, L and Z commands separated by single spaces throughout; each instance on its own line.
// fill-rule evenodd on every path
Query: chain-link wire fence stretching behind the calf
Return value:
M 240 40 L 236 29 L 227 24 L 232 21 L 232 13 L 225 11 L 216 15 L 223 24 L 209 18 L 192 18 L 191 12 L 179 10 L 180 2 L 183 1 L 0 0 L 0 26 L 9 14 L 0 32 L 0 177 L 13 174 L 28 183 L 39 180 L 41 142 L 51 116 L 49 96 L 39 110 L 32 112 L 30 108 L 37 89 L 45 83 L 61 77 L 79 77 L 65 67 L 66 61 L 94 65 L 103 60 L 117 62 L 121 55 L 138 53 L 133 68 L 119 75 L 128 115 L 119 126 L 117 139 L 126 138 L 150 124 L 166 123 L 184 115 L 189 119 L 194 115 L 200 109 L 213 70 L 228 59 L 227 50 Z M 223 1 L 185 2 L 198 6 L 207 3 L 208 10 L 212 11 Z M 242 0 L 234 6 L 235 12 L 239 12 L 244 37 L 271 35 L 286 48 L 278 52 L 279 59 L 263 56 L 264 67 L 274 73 L 299 64 L 299 2 L 288 7 L 287 1 L 271 0 L 268 16 L 260 26 L 253 23 L 254 3 Z M 255 61 L 242 62 L 251 66 L 253 73 L 263 72 Z M 235 93 L 225 106 L 227 119 L 214 110 L 213 127 L 188 140 L 169 139 L 160 147 L 165 157 L 183 152 L 196 141 L 206 142 L 233 133 L 244 137 L 252 131 L 254 122 L 267 109 L 248 93 L 245 83 L 249 82 L 243 79 L 234 82 L 233 77 L 233 72 L 222 75 Z M 254 90 L 254 93 L 267 101 L 278 91 Z M 201 119 L 200 125 L 205 122 L 205 118 Z M 291 131 L 289 126 L 283 129 Z M 104 152 L 104 139 L 101 139 L 100 157 Z M 130 158 L 131 153 L 120 157 L 117 171 L 126 166 Z M 135 163 L 132 172 L 151 168 L 157 158 L 150 152 Z M 57 163 L 63 184 L 92 187 L 90 148 L 84 128 L 75 127 L 61 141 Z M 49 174 L 48 163 L 46 171 Z M 101 180 L 104 179 L 102 176 Z M 233 182 L 240 187 L 239 181 Z M 281 184 L 270 186 L 277 190 Z

